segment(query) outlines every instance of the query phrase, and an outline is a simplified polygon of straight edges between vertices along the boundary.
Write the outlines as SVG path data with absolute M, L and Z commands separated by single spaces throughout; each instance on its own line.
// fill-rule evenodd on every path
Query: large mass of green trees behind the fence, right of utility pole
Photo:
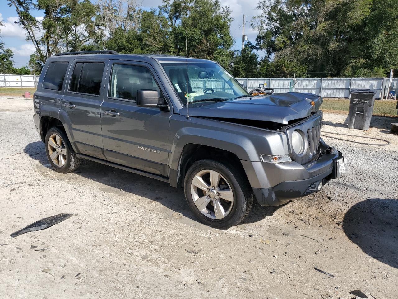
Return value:
M 398 65 L 396 0 L 262 0 L 252 21 L 269 60 L 307 75 L 380 75 Z

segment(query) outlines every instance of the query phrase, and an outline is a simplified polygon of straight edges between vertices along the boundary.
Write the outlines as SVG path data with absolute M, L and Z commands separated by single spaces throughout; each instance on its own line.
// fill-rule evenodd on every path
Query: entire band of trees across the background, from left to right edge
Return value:
M 398 68 L 396 0 L 259 0 L 251 22 L 258 35 L 242 50 L 234 50 L 231 11 L 220 0 L 163 0 L 150 10 L 138 0 L 8 5 L 35 46 L 35 73 L 55 53 L 105 49 L 211 59 L 235 77 L 384 77 Z M 6 65 L 12 55 L 0 50 Z

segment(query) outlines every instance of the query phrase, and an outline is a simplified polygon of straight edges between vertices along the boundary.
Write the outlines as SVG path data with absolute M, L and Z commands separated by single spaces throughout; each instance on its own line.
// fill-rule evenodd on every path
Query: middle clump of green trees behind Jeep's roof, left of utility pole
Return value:
M 188 55 L 228 67 L 233 57 L 231 20 L 229 8 L 218 0 L 164 0 L 158 10 L 140 10 L 137 27 L 115 25 L 105 47 L 120 53 Z

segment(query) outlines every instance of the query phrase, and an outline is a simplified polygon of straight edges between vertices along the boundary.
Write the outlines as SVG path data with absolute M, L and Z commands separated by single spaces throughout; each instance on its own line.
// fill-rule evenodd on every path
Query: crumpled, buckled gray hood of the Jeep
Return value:
M 315 102 L 315 106 L 311 105 Z M 306 118 L 311 112 L 318 111 L 323 98 L 312 93 L 284 92 L 267 96 L 253 96 L 214 102 L 204 106 L 189 106 L 189 116 L 209 118 L 235 118 L 246 120 L 264 120 L 279 124 L 288 124 L 290 120 Z M 187 116 L 187 108 L 179 110 Z

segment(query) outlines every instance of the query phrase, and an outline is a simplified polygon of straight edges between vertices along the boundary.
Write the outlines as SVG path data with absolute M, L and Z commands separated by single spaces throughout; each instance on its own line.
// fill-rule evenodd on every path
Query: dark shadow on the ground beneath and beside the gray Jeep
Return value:
M 27 144 L 23 151 L 32 159 L 39 161 L 44 167 L 52 170 L 45 153 L 43 142 Z M 189 209 L 182 188 L 174 188 L 166 182 L 89 160 L 83 160 L 80 167 L 74 173 L 85 179 L 101 183 L 105 186 L 101 188 L 103 191 L 106 190 L 109 193 L 113 192 L 116 194 L 121 194 L 121 192 L 125 191 L 152 201 L 158 201 L 164 207 L 181 213 L 188 219 L 202 225 Z M 243 223 L 253 223 L 267 216 L 272 216 L 275 208 L 268 209 L 256 204 L 255 199 L 254 207 Z M 177 217 L 179 216 L 177 215 Z

